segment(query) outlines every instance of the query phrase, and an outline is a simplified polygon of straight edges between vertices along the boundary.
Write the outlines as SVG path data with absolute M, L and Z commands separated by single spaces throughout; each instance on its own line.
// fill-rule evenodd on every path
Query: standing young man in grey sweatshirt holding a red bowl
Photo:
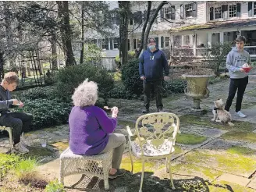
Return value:
M 251 59 L 247 51 L 244 50 L 245 37 L 240 36 L 236 38 L 236 48 L 233 48 L 226 57 L 226 68 L 229 69 L 230 85 L 229 85 L 229 97 L 226 100 L 226 111 L 229 111 L 232 105 L 233 98 L 236 98 L 236 116 L 246 117 L 242 113 L 241 105 L 244 96 L 244 91 L 248 84 L 248 74 L 242 68 L 244 63 L 250 64 Z

